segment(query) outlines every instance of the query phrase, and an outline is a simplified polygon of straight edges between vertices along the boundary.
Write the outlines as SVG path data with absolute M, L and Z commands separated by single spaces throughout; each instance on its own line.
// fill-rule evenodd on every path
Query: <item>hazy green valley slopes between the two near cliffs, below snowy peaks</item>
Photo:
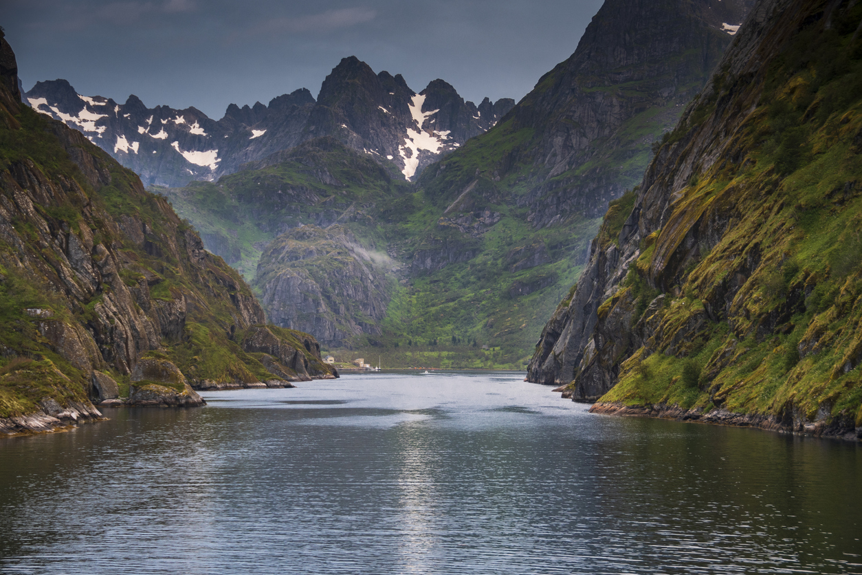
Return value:
M 706 17 L 709 5 L 606 2 L 570 59 L 412 185 L 363 159 L 373 154 L 316 139 L 218 182 L 159 192 L 253 284 L 273 321 L 309 330 L 330 352 L 384 355 L 389 366 L 522 368 L 586 262 L 608 202 L 636 184 L 653 142 L 733 39 L 723 22 L 741 22 L 751 3 L 721 3 Z M 663 27 L 685 34 L 671 41 L 656 33 Z M 366 72 L 351 94 L 378 91 Z M 321 228 L 303 234 L 323 238 L 333 224 L 361 249 L 328 244 L 310 259 L 284 249 L 260 259 L 299 226 Z M 371 274 L 376 303 L 347 305 L 311 267 L 340 282 Z M 347 317 L 337 319 L 340 309 Z

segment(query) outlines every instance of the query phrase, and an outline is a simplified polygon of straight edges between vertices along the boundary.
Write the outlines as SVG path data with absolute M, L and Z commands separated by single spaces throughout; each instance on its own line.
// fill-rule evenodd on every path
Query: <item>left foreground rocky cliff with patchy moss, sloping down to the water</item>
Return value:
M 0 429 L 97 418 L 92 401 L 195 405 L 193 387 L 332 377 L 308 334 L 261 325 L 165 197 L 22 105 L 14 63 L 0 41 Z

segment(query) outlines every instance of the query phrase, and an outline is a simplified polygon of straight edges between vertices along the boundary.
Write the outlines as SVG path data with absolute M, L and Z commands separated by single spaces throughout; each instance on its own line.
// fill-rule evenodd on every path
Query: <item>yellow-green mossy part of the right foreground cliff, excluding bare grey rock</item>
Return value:
M 599 308 L 646 330 L 601 402 L 862 425 L 862 5 L 833 10 L 787 10 L 763 69 L 722 71 L 665 138 L 696 166 L 692 142 L 728 134 Z

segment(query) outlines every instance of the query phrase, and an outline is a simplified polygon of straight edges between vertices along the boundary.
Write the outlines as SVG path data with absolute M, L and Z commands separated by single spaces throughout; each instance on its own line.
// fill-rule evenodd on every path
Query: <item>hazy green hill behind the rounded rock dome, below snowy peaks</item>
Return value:
M 359 222 L 366 224 L 363 236 L 379 241 L 367 213 L 370 207 L 380 206 L 392 219 L 412 209 L 402 198 L 408 182 L 328 137 L 247 164 L 217 183 L 153 191 L 169 197 L 179 216 L 200 231 L 207 248 L 248 281 L 266 244 L 291 228 Z

